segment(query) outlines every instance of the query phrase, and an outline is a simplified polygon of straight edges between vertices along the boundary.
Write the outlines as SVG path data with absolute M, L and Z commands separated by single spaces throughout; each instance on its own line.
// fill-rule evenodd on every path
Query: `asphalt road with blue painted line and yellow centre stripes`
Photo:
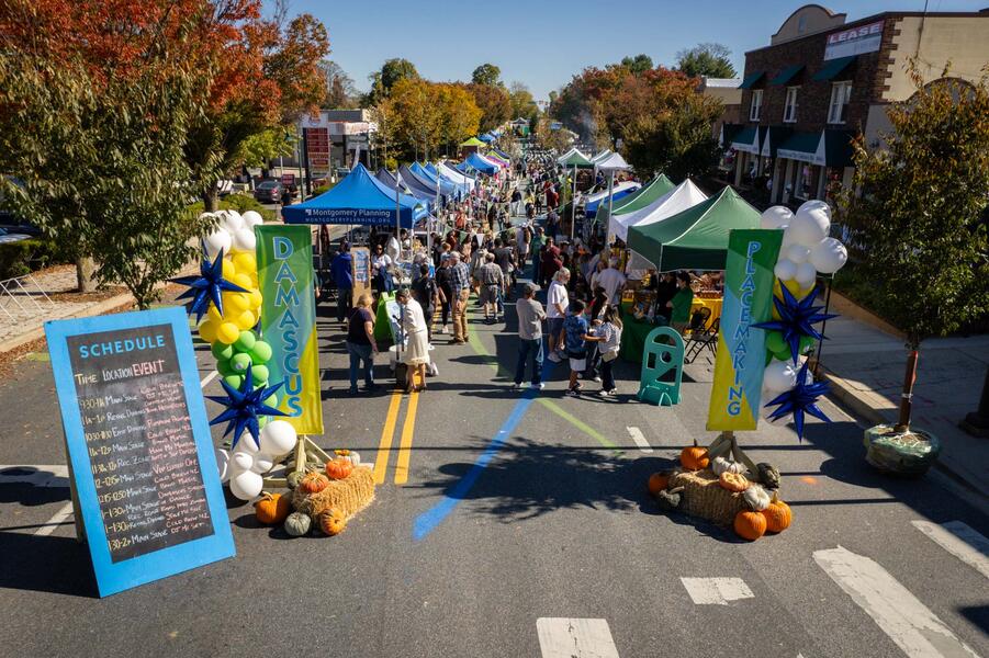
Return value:
M 394 394 L 346 394 L 341 327 L 331 305 L 321 315 L 318 443 L 387 458 L 371 507 L 337 537 L 290 540 L 232 501 L 235 558 L 101 600 L 71 520 L 58 518 L 65 479 L 0 472 L 2 655 L 989 655 L 985 545 L 951 542 L 968 532 L 958 522 L 985 542 L 989 518 L 936 477 L 874 473 L 862 427 L 833 405 L 834 422 L 810 423 L 803 442 L 790 427 L 744 434 L 755 461 L 783 473 L 795 514 L 749 544 L 661 512 L 644 491 L 681 446 L 713 439 L 709 367 L 690 368 L 672 408 L 634 401 L 630 364 L 617 400 L 565 398 L 561 366 L 538 396 L 519 394 L 498 370 L 514 367 L 512 314 L 507 326 L 475 321 L 469 345 L 436 338 L 440 375 L 414 419 L 400 396 L 392 450 L 379 454 Z M 209 351 L 198 359 L 205 377 Z M 33 354 L 0 383 L 0 464 L 65 463 L 49 366 Z M 390 383 L 387 366 L 377 376 Z

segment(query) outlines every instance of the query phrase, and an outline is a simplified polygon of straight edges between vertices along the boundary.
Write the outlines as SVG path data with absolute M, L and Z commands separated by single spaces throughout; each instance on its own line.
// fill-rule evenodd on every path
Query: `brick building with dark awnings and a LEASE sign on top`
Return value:
M 845 22 L 819 4 L 795 11 L 769 45 L 745 53 L 741 121 L 724 124 L 737 186 L 771 203 L 830 198 L 852 178 L 850 141 L 889 129 L 885 107 L 913 94 L 908 64 L 923 78 L 977 80 L 989 63 L 989 9 L 971 13 L 886 12 Z

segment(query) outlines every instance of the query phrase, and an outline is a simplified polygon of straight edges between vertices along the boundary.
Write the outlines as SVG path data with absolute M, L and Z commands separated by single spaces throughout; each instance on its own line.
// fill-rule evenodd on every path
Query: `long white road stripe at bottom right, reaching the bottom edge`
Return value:
M 878 563 L 842 546 L 814 551 L 813 559 L 910 658 L 978 658 Z

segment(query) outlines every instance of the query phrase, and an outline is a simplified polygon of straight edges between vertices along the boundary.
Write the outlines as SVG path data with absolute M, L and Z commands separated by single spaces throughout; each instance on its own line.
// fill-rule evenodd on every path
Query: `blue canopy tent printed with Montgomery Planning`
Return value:
M 282 208 L 285 224 L 359 224 L 362 226 L 395 226 L 412 228 L 426 216 L 423 204 L 407 194 L 389 190 L 358 163 L 328 192 L 306 202 Z

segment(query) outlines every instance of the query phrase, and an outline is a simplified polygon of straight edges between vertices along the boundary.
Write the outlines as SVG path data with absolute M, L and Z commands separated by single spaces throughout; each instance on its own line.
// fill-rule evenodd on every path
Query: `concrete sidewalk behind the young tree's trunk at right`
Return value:
M 824 334 L 821 364 L 834 396 L 866 422 L 896 422 L 907 367 L 903 340 L 847 316 L 829 320 Z M 937 467 L 989 498 L 989 441 L 958 427 L 978 407 L 987 366 L 989 336 L 924 341 L 911 424 L 941 439 Z

